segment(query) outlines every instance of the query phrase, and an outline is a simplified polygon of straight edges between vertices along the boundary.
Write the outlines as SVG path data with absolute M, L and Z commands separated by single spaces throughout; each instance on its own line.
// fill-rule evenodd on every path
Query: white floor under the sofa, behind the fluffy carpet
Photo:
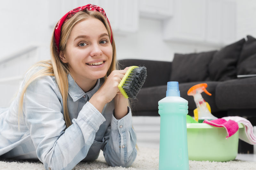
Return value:
M 139 148 L 159 149 L 160 117 L 133 116 L 132 124 L 137 134 Z M 256 162 L 256 154 L 237 154 L 236 159 Z

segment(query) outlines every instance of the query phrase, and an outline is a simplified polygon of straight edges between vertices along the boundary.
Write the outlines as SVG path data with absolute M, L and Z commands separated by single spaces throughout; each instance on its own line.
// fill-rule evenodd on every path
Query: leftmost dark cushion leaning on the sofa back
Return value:
M 193 82 L 204 81 L 208 74 L 208 65 L 217 51 L 174 54 L 172 61 L 171 81 Z

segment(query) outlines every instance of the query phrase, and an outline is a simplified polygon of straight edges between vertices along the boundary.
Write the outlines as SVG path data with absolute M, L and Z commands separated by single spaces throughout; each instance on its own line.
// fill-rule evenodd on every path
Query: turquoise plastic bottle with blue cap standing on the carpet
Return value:
M 167 83 L 158 102 L 160 115 L 159 170 L 189 170 L 186 115 L 188 101 L 180 97 L 179 82 Z

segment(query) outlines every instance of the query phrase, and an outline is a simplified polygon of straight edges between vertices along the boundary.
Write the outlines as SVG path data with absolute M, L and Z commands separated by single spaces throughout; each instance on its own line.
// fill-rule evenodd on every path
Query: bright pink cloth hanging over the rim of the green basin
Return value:
M 212 126 L 216 126 L 216 127 L 224 127 L 228 133 L 228 136 L 226 137 L 229 138 L 230 136 L 234 135 L 239 127 L 238 127 L 238 123 L 233 121 L 233 120 L 225 120 L 225 119 L 215 119 L 215 120 L 204 120 L 203 123 L 207 123 L 210 124 Z

